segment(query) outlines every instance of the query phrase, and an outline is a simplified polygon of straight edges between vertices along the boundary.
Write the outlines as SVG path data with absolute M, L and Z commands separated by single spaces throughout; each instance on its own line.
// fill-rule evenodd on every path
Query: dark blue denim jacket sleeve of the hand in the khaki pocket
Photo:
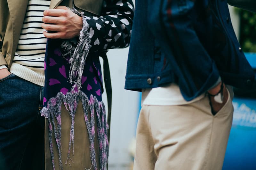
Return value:
M 149 13 L 149 28 L 179 78 L 183 97 L 187 101 L 192 100 L 220 80 L 214 61 L 193 28 L 192 18 L 197 12 L 195 2 L 153 0 L 153 6 L 158 8 L 159 13 Z M 163 33 L 162 36 L 159 33 Z

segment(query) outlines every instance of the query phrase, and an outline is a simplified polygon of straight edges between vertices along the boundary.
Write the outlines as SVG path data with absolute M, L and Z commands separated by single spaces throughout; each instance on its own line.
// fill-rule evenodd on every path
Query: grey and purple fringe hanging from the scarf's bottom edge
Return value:
M 59 92 L 56 97 L 51 98 L 48 101 L 48 106 L 43 107 L 41 111 L 41 115 L 45 118 L 48 118 L 49 123 L 49 142 L 50 142 L 50 151 L 52 156 L 52 166 L 55 170 L 54 165 L 54 154 L 53 154 L 53 144 L 52 144 L 52 134 L 54 134 L 55 141 L 58 148 L 59 154 L 59 167 L 63 170 L 63 164 L 61 160 L 61 104 L 64 103 L 66 109 L 68 110 L 71 116 L 71 129 L 70 129 L 70 139 L 69 139 L 69 150 L 67 155 L 67 160 L 65 164 L 71 166 L 71 162 L 74 161 L 71 159 L 70 152 L 72 146 L 72 154 L 74 157 L 74 124 L 75 124 L 75 113 L 78 101 L 82 101 L 83 111 L 84 111 L 84 120 L 86 124 L 86 128 L 88 130 L 89 141 L 90 141 L 90 157 L 92 161 L 92 167 L 94 170 L 97 170 L 97 163 L 96 163 L 96 153 L 94 148 L 94 139 L 95 139 L 95 123 L 97 123 L 98 129 L 98 141 L 100 147 L 100 170 L 107 169 L 108 163 L 108 124 L 106 119 L 106 112 L 105 106 L 102 101 L 98 101 L 97 98 L 94 96 L 90 96 L 90 99 L 86 96 L 84 92 L 81 91 L 74 91 L 68 92 L 64 95 L 62 92 Z M 88 113 L 91 113 L 91 121 L 89 121 Z M 94 120 L 94 114 L 97 120 Z M 55 123 L 57 121 L 57 125 Z M 94 123 L 95 122 L 95 123 Z

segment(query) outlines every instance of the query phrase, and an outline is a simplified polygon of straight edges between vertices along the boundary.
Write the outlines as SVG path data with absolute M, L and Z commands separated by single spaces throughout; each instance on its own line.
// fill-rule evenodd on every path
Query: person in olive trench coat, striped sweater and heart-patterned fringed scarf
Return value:
M 132 0 L 0 0 L 0 169 L 107 168 L 102 130 L 108 125 L 95 52 L 129 45 L 133 13 Z M 61 45 L 52 50 L 50 42 Z M 88 76 L 72 74 L 73 66 Z M 57 72 L 75 86 L 49 94 L 62 84 L 47 79 Z

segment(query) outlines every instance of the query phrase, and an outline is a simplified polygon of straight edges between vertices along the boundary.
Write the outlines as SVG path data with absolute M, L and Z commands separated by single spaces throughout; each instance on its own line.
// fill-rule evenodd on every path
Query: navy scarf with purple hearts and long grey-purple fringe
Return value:
M 108 124 L 106 121 L 105 106 L 102 103 L 102 75 L 99 55 L 89 53 L 91 40 L 88 33 L 88 24 L 76 9 L 72 11 L 83 17 L 83 29 L 79 39 L 52 40 L 48 39 L 45 53 L 45 88 L 44 107 L 41 115 L 48 119 L 49 142 L 54 165 L 52 135 L 57 143 L 59 167 L 63 169 L 62 156 L 67 156 L 65 164 L 70 161 L 71 153 L 74 155 L 74 123 L 78 101 L 81 100 L 84 110 L 84 121 L 90 140 L 90 152 L 92 167 L 97 169 L 94 149 L 94 122 L 97 123 L 98 141 L 100 147 L 100 169 L 107 169 L 108 162 Z M 88 57 L 87 57 L 88 56 Z M 71 128 L 69 138 L 68 155 L 61 155 L 61 104 L 64 103 L 71 116 Z M 91 120 L 88 119 L 91 113 Z M 94 120 L 96 114 L 97 120 Z M 54 122 L 57 120 L 57 124 Z M 71 153 L 70 153 L 71 152 Z

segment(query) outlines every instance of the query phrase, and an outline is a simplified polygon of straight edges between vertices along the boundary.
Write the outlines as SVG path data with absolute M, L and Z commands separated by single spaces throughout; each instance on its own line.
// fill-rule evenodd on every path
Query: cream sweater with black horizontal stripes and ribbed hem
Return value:
M 46 37 L 42 17 L 50 0 L 29 0 L 11 72 L 32 83 L 44 85 Z

